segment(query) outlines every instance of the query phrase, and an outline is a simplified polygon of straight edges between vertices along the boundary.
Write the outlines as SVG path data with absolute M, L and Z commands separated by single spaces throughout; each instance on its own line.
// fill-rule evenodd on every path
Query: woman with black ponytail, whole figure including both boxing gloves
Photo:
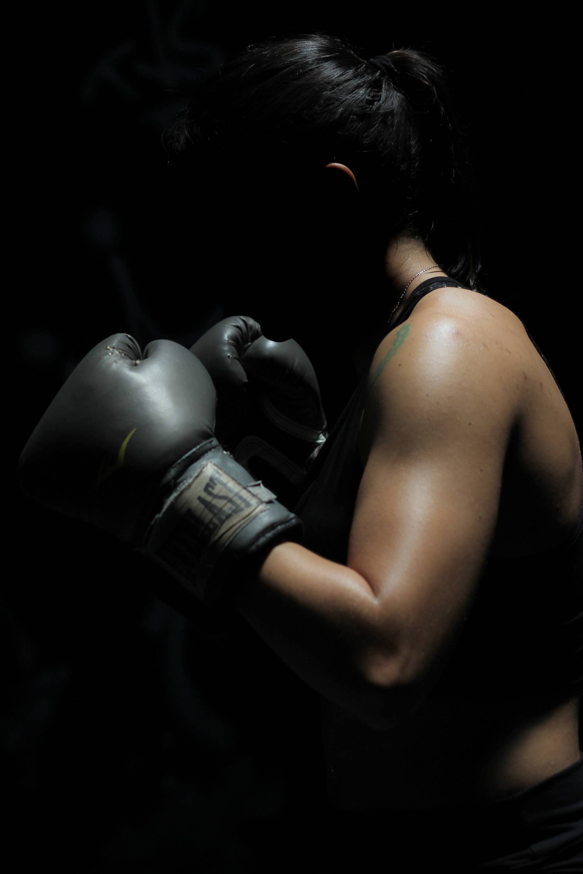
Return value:
M 302 340 L 348 402 L 292 513 L 215 440 L 200 361 L 115 335 L 39 422 L 24 489 L 190 592 L 225 583 L 320 693 L 330 822 L 312 870 L 581 871 L 580 440 L 524 325 L 479 284 L 439 66 L 269 39 L 201 84 L 168 142 L 188 212 L 215 211 L 219 293 L 233 281 L 230 302 Z

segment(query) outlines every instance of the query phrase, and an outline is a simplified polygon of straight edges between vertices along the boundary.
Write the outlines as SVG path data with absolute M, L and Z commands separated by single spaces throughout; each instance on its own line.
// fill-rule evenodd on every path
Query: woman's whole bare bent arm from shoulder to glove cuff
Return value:
M 235 593 L 298 676 L 378 730 L 417 708 L 452 653 L 493 536 L 515 406 L 496 343 L 471 325 L 411 333 L 391 365 L 390 337 L 373 362 L 349 566 L 284 543 Z

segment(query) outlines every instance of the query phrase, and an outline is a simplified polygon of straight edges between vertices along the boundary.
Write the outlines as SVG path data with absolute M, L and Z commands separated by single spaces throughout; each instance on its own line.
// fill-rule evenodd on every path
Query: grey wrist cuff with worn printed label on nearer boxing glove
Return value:
M 274 545 L 302 539 L 301 519 L 254 482 L 217 440 L 192 450 L 170 473 L 162 509 L 139 551 L 209 609 L 225 586 L 258 572 Z

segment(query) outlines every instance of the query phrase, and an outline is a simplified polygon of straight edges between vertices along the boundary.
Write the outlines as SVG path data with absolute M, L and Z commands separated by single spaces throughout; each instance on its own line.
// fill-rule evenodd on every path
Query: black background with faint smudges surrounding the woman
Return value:
M 304 859 L 326 810 L 316 692 L 242 618 L 219 638 L 195 633 L 144 591 L 141 558 L 32 506 L 11 478 L 45 407 L 103 337 L 190 346 L 231 315 L 221 288 L 240 277 L 208 245 L 204 217 L 189 251 L 177 246 L 184 213 L 165 176 L 161 135 L 200 71 L 313 28 L 368 57 L 432 52 L 468 123 L 486 290 L 531 330 L 580 422 L 569 28 L 548 13 L 510 21 L 490 4 L 462 17 L 455 6 L 365 6 L 88 0 L 70 13 L 24 7 L 7 24 L 3 276 L 17 392 L 4 427 L 4 870 L 33 859 L 267 870 L 282 850 Z M 333 420 L 350 392 L 325 377 L 322 388 Z

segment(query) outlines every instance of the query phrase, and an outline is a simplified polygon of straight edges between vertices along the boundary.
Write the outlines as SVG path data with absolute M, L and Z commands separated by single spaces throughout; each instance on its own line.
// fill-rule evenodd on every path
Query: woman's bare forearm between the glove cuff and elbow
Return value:
M 386 653 L 378 602 L 356 571 L 304 546 L 272 549 L 259 574 L 233 586 L 233 604 L 281 659 L 323 697 L 385 727 Z M 382 664 L 381 664 L 382 662 Z

